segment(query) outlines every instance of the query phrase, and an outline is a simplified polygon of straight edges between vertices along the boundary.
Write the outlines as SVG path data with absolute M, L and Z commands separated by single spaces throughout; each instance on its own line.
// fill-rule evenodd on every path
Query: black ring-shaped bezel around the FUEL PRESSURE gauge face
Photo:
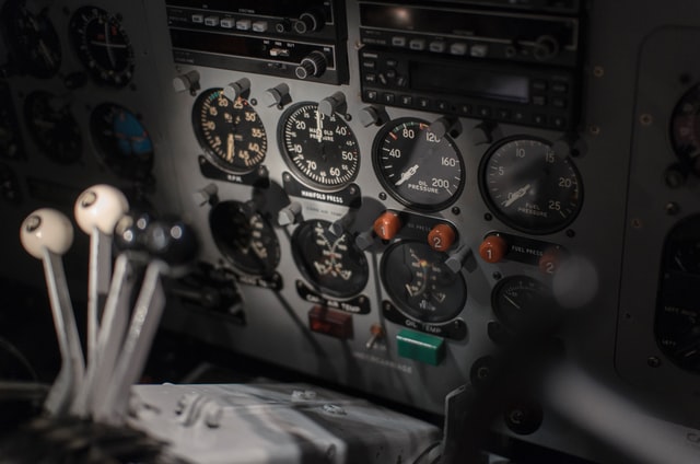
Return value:
M 536 136 L 529 136 L 529 135 L 515 135 L 515 136 L 511 136 L 511 137 L 505 137 L 503 139 L 500 139 L 499 141 L 497 141 L 495 143 L 493 143 L 491 147 L 489 147 L 489 149 L 486 151 L 486 153 L 483 153 L 483 156 L 481 158 L 481 161 L 479 163 L 479 193 L 481 194 L 481 198 L 483 199 L 483 201 L 486 202 L 487 207 L 489 208 L 489 211 L 491 211 L 493 213 L 493 216 L 495 216 L 501 222 L 503 222 L 505 225 L 508 225 L 509 228 L 518 231 L 518 232 L 523 232 L 526 234 L 530 234 L 530 235 L 546 235 L 546 234 L 551 234 L 551 233 L 556 233 L 559 232 L 565 228 L 568 228 L 569 225 L 571 225 L 573 223 L 573 221 L 576 220 L 576 218 L 579 217 L 581 209 L 583 207 L 583 202 L 584 202 L 584 189 L 583 189 L 583 178 L 581 176 L 581 172 L 579 171 L 579 169 L 576 167 L 575 163 L 573 162 L 571 156 L 561 156 L 557 153 L 555 153 L 556 156 L 560 158 L 564 163 L 567 163 L 572 172 L 575 175 L 576 178 L 576 188 L 578 188 L 578 204 L 575 206 L 575 209 L 561 222 L 558 222 L 555 225 L 550 225 L 550 227 L 527 227 L 527 225 L 522 225 L 520 224 L 516 220 L 513 220 L 509 217 L 509 214 L 506 214 L 505 212 L 503 212 L 501 210 L 501 208 L 498 206 L 497 201 L 493 200 L 493 198 L 491 197 L 490 193 L 489 193 L 489 188 L 488 188 L 488 181 L 487 181 L 487 170 L 489 166 L 489 162 L 491 160 L 491 156 L 493 156 L 493 154 L 500 150 L 502 147 L 505 147 L 506 144 L 514 142 L 514 141 L 535 141 L 535 142 L 540 142 L 547 147 L 552 146 L 551 141 L 541 138 L 541 137 L 536 137 Z

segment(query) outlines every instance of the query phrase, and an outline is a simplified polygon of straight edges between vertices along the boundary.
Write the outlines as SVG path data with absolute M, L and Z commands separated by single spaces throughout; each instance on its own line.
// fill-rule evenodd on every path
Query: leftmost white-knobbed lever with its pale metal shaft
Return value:
M 80 388 L 85 361 L 80 345 L 75 316 L 66 282 L 63 255 L 73 243 L 73 227 L 66 214 L 55 209 L 42 208 L 26 217 L 20 229 L 20 241 L 26 252 L 44 263 L 44 274 L 61 368 L 44 404 L 51 415 L 68 411 L 75 392 Z

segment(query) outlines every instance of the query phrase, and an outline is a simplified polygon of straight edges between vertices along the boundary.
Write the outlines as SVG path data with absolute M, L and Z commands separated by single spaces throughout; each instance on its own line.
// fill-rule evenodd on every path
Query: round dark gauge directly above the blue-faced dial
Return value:
M 78 57 L 97 81 L 117 88 L 133 74 L 133 47 L 118 16 L 96 7 L 82 7 L 70 20 Z

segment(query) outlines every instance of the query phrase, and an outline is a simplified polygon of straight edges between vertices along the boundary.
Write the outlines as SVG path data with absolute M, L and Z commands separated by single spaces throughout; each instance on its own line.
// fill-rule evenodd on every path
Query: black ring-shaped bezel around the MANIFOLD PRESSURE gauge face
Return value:
M 339 113 L 335 113 L 335 116 L 338 120 L 337 124 L 343 125 L 348 130 L 348 137 L 350 137 L 354 141 L 354 151 L 355 151 L 357 161 L 353 163 L 353 171 L 348 179 L 334 185 L 322 184 L 310 178 L 306 173 L 304 173 L 296 164 L 294 164 L 294 161 L 292 160 L 293 156 L 289 152 L 289 148 L 287 147 L 287 143 L 285 143 L 287 125 L 291 120 L 291 116 L 305 106 L 317 107 L 318 103 L 312 102 L 312 101 L 299 102 L 290 106 L 289 108 L 287 108 L 284 113 L 282 113 L 282 116 L 280 117 L 280 120 L 277 127 L 277 140 L 279 143 L 280 153 L 282 154 L 282 159 L 284 160 L 284 163 L 287 164 L 287 166 L 292 171 L 294 176 L 301 179 L 304 184 L 308 185 L 310 187 L 318 190 L 323 190 L 323 192 L 342 190 L 348 185 L 350 185 L 358 177 L 358 174 L 360 173 L 361 155 L 360 155 L 360 143 L 358 142 L 358 138 L 355 137 L 354 131 L 350 128 L 350 125 L 348 124 L 348 121 L 345 120 L 345 117 Z

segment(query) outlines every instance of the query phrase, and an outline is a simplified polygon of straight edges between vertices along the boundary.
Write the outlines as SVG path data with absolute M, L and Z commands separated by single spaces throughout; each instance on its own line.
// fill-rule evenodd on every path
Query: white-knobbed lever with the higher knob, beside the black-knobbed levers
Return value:
M 112 279 L 112 234 L 117 221 L 128 210 L 127 198 L 110 185 L 94 185 L 80 194 L 75 200 L 75 222 L 90 235 L 86 337 L 89 362 L 95 357 L 101 302 L 106 298 Z

